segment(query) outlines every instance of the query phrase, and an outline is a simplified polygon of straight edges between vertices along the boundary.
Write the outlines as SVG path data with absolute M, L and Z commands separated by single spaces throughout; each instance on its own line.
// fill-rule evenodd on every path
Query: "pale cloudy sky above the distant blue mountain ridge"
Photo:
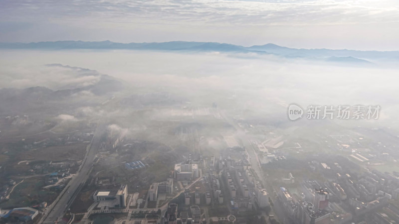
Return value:
M 0 42 L 211 41 L 399 50 L 398 0 L 0 0 Z

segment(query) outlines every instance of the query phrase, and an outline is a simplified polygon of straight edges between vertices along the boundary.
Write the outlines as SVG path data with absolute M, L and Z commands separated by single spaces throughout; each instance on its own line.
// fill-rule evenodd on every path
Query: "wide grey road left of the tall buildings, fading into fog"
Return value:
M 53 224 L 62 219 L 89 177 L 95 156 L 100 147 L 101 137 L 105 133 L 105 130 L 106 126 L 104 124 L 97 125 L 93 138 L 87 146 L 85 159 L 82 162 L 80 170 L 75 174 L 72 180 L 69 181 L 57 199 L 55 199 L 55 201 L 47 208 L 47 214 L 45 213 L 43 215 L 39 223 Z

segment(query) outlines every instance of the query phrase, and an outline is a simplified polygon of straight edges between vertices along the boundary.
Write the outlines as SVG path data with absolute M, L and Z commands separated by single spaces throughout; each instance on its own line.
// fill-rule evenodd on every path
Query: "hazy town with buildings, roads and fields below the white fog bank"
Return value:
M 0 222 L 399 222 L 399 139 L 387 128 L 273 122 L 237 106 L 237 91 L 131 94 L 96 76 L 87 98 L 0 90 Z

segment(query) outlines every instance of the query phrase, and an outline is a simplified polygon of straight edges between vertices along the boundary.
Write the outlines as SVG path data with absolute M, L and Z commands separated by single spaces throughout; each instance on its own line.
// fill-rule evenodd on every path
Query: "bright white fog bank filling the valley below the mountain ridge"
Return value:
M 239 107 L 265 111 L 270 102 L 281 107 L 292 102 L 300 105 L 379 104 L 384 109 L 399 104 L 397 67 L 342 67 L 252 54 L 86 50 L 3 53 L 0 56 L 1 87 L 20 87 L 14 80 L 24 79 L 30 80 L 31 85 L 53 85 L 59 77 L 65 77 L 65 71 L 39 65 L 62 63 L 96 69 L 123 80 L 134 87 L 128 88 L 131 91 L 166 91 L 197 103 L 221 98 Z M 25 69 L 18 69 L 20 67 Z M 49 74 L 53 74 L 52 82 L 45 78 Z M 82 108 L 81 112 L 93 111 Z

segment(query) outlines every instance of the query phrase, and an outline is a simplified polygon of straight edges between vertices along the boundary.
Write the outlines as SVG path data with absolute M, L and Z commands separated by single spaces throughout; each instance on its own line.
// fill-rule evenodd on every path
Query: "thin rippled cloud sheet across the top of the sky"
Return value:
M 6 0 L 2 3 L 1 18 L 17 20 L 17 17 L 22 17 L 28 21 L 51 17 L 67 23 L 83 21 L 83 24 L 100 18 L 101 22 L 110 21 L 121 26 L 139 20 L 148 24 L 173 21 L 222 25 L 313 25 L 398 21 L 398 6 L 394 0 L 382 0 L 378 4 L 372 0 L 119 0 L 76 1 L 73 4 L 56 0 L 51 3 Z

